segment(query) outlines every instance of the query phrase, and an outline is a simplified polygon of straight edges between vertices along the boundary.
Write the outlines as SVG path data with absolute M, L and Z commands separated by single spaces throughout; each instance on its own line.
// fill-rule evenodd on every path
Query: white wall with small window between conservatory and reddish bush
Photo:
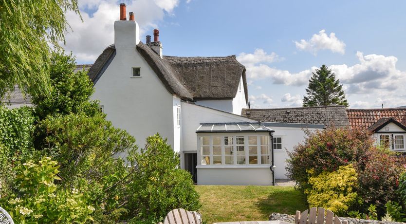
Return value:
M 274 137 L 282 137 L 282 150 L 274 150 L 274 165 L 275 168 L 275 178 L 276 179 L 286 179 L 286 160 L 289 158 L 287 151 L 293 151 L 294 147 L 301 143 L 306 134 L 302 128 L 285 128 L 285 127 L 272 127 L 267 126 L 274 130 Z M 316 129 L 309 129 L 314 131 Z

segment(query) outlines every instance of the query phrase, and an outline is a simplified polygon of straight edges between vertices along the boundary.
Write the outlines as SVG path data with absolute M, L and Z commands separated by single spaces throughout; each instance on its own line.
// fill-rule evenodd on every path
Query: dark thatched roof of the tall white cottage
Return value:
M 232 99 L 238 92 L 242 76 L 245 100 L 248 102 L 245 67 L 237 61 L 236 56 L 161 58 L 142 42 L 137 45 L 137 51 L 172 94 L 186 100 Z M 89 71 L 94 83 L 114 56 L 115 48 L 111 45 L 94 62 Z

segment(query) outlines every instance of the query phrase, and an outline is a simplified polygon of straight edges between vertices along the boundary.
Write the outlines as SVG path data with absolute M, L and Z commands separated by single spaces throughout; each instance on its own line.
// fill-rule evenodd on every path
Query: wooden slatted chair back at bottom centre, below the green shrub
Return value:
M 201 222 L 197 212 L 190 212 L 183 208 L 177 208 L 173 209 L 166 215 L 163 224 L 201 224 Z

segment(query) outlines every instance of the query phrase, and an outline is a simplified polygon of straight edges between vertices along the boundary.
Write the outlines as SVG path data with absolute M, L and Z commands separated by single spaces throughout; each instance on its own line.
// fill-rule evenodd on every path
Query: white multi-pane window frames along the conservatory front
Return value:
M 213 137 L 214 136 L 220 136 L 221 137 L 221 165 L 220 164 L 213 164 Z M 237 164 L 237 137 L 244 137 L 244 149 L 245 149 L 245 164 Z M 248 141 L 248 137 L 249 136 L 256 136 L 257 137 L 257 159 L 258 162 L 257 164 L 249 164 L 249 141 Z M 260 137 L 261 136 L 266 136 L 268 137 L 268 154 L 263 154 L 266 156 L 269 156 L 269 164 L 261 164 L 261 141 L 260 141 Z M 203 156 L 207 156 L 207 155 L 201 155 L 201 149 L 202 149 L 202 143 L 201 143 L 201 137 L 210 137 L 210 164 L 206 165 L 206 164 L 202 164 L 203 161 Z M 224 146 L 224 137 L 233 137 L 233 164 L 225 164 L 225 146 Z M 235 167 L 235 168 L 240 168 L 240 167 L 267 167 L 269 168 L 269 166 L 272 163 L 272 152 L 271 152 L 271 144 L 272 144 L 272 140 L 271 137 L 269 136 L 269 133 L 198 133 L 197 134 L 197 146 L 198 146 L 198 150 L 197 150 L 197 156 L 198 156 L 198 167 L 199 168 L 231 168 L 231 167 Z M 263 145 L 262 145 L 263 146 Z M 242 156 L 242 155 L 241 155 Z M 251 155 L 252 156 L 252 155 Z

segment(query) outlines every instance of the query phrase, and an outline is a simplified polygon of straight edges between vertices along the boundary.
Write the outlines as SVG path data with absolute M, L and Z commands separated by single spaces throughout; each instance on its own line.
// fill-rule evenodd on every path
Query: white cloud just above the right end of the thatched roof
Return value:
M 263 49 L 257 48 L 254 51 L 254 54 L 240 53 L 237 56 L 237 60 L 246 67 L 254 66 L 258 63 L 271 63 L 274 61 L 280 61 L 284 58 L 279 57 L 275 52 L 272 52 L 270 55 L 266 53 Z

